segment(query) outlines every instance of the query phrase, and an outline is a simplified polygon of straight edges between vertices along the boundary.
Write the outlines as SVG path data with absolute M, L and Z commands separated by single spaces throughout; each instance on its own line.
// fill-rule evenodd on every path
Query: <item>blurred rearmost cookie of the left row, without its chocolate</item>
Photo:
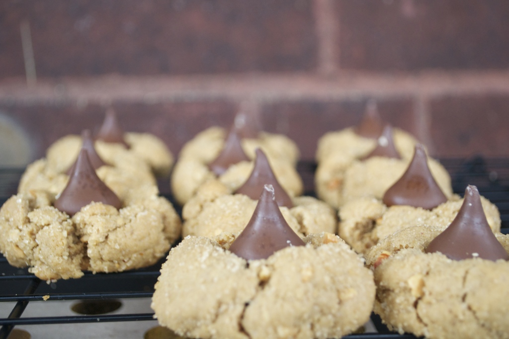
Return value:
M 106 163 L 115 163 L 118 154 L 124 153 L 124 157 L 133 157 L 134 162 L 145 163 L 156 176 L 169 174 L 174 157 L 161 139 L 149 133 L 135 132 L 124 133 L 124 138 L 129 149 L 119 143 L 97 140 L 95 142 L 97 153 Z M 76 159 L 80 147 L 79 135 L 66 135 L 56 140 L 46 151 L 48 166 L 59 173 L 67 171 Z

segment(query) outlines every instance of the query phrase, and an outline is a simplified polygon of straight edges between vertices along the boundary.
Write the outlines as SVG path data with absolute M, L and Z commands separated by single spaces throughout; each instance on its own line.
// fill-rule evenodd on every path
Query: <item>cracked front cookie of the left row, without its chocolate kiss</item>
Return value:
M 69 217 L 52 206 L 54 193 L 20 192 L 0 209 L 0 252 L 43 280 L 152 265 L 181 231 L 175 209 L 157 194 L 155 185 L 139 186 L 120 210 L 91 203 Z

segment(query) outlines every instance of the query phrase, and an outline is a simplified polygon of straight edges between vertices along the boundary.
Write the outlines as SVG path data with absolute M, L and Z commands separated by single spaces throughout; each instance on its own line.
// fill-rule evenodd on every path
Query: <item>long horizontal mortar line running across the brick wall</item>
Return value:
M 337 101 L 400 99 L 422 96 L 509 94 L 509 71 L 379 74 L 341 72 L 333 78 L 310 74 L 220 74 L 209 76 L 100 76 L 39 79 L 30 89 L 21 79 L 0 81 L 6 105 L 86 102 Z

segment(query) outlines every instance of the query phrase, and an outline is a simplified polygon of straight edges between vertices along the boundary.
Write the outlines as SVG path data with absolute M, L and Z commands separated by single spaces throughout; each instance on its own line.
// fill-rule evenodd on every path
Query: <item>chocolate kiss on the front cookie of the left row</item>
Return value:
M 101 202 L 117 209 L 122 206 L 117 195 L 95 173 L 87 150 L 81 149 L 74 172 L 53 206 L 72 216 L 91 202 Z

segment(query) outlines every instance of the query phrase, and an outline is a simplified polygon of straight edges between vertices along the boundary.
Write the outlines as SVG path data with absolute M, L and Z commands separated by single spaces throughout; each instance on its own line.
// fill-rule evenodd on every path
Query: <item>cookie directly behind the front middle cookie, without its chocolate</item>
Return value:
M 280 207 L 290 227 L 301 237 L 311 233 L 335 233 L 335 212 L 327 204 L 310 196 L 293 197 L 292 208 Z M 203 184 L 184 205 L 183 236 L 215 238 L 221 233 L 237 234 L 251 218 L 256 200 L 232 190 L 217 179 Z

